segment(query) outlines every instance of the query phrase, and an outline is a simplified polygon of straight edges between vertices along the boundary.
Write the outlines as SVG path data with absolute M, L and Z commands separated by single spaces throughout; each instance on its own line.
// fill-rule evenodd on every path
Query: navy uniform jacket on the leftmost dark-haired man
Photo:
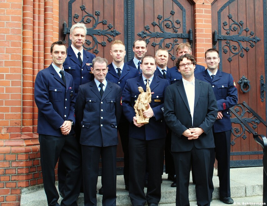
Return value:
M 65 120 L 75 123 L 74 82 L 65 72 L 66 86 L 52 64 L 38 72 L 34 99 L 38 107 L 37 132 L 42 135 L 63 136 L 60 130 Z M 74 134 L 72 129 L 70 135 Z

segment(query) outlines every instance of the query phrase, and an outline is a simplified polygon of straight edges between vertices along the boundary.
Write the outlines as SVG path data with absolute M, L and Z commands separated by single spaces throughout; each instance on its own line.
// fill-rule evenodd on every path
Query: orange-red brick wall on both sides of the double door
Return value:
M 196 60 L 211 48 L 211 1 L 195 2 Z M 0 205 L 20 205 L 21 189 L 42 183 L 34 81 L 51 64 L 59 0 L 0 1 Z

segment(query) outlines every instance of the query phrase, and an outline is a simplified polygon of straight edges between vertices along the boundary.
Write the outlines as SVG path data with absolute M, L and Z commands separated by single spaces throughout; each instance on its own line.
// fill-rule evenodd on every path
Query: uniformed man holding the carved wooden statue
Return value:
M 129 127 L 129 195 L 133 205 L 158 205 L 161 199 L 161 174 L 165 146 L 165 121 L 163 118 L 164 97 L 169 82 L 154 75 L 156 61 L 151 55 L 144 56 L 141 64 L 142 75 L 126 81 L 122 94 L 122 109 L 130 123 Z M 143 115 L 148 124 L 137 124 L 134 109 L 140 94 L 138 87 L 151 89 L 151 103 Z M 144 193 L 146 161 L 148 164 L 147 193 Z

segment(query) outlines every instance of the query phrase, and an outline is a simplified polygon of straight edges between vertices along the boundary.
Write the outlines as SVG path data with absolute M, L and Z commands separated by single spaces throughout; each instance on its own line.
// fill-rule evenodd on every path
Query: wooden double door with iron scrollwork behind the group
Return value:
M 135 39 L 144 38 L 147 54 L 154 55 L 156 49 L 164 47 L 169 51 L 168 66 L 175 65 L 174 47 L 181 42 L 194 45 L 194 5 L 190 0 L 69 0 L 60 1 L 61 39 L 70 45 L 70 28 L 76 22 L 87 26 L 84 48 L 109 63 L 111 43 L 120 39 L 126 46 L 125 61 L 134 54 Z M 193 48 L 194 52 L 194 48 Z M 122 173 L 123 152 L 117 149 L 117 173 Z

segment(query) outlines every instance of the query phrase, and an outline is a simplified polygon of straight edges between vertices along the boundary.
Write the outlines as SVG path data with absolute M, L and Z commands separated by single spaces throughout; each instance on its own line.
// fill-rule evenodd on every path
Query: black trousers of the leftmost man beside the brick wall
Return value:
M 74 135 L 51 136 L 39 134 L 41 167 L 48 205 L 59 205 L 55 186 L 55 166 L 60 157 L 66 166 L 64 198 L 61 205 L 77 205 L 81 186 L 81 155 Z

